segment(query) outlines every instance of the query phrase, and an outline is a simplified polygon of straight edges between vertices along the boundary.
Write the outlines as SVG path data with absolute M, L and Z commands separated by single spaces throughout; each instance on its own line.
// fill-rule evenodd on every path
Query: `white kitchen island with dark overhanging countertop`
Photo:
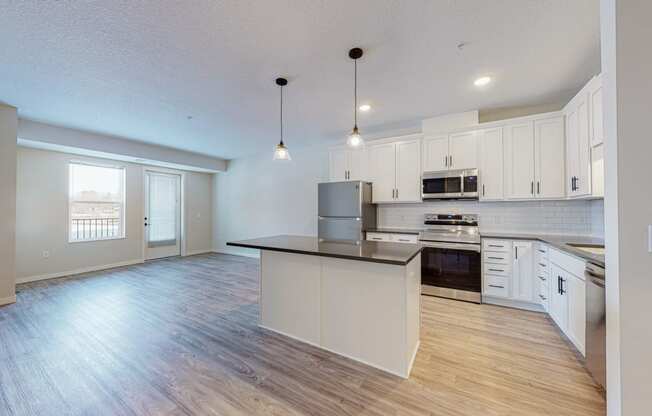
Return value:
M 281 235 L 260 250 L 263 328 L 407 378 L 419 347 L 421 247 Z

